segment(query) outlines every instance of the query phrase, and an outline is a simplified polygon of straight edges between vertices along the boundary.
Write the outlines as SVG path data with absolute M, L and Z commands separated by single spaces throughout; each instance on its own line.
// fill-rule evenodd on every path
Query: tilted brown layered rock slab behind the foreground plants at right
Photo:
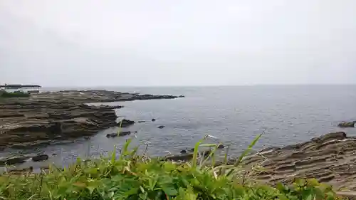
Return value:
M 233 164 L 231 159 L 229 164 Z M 356 189 L 356 137 L 333 132 L 309 142 L 266 149 L 244 159 L 246 167 L 261 165 L 261 181 L 290 183 L 295 178 L 316 178 L 335 189 Z

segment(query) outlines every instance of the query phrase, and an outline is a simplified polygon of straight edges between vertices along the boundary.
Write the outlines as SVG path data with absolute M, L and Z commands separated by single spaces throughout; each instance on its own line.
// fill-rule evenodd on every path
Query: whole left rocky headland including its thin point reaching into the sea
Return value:
M 183 97 L 183 96 L 180 96 Z M 93 135 L 117 126 L 115 108 L 85 103 L 174 99 L 173 95 L 139 95 L 108 90 L 65 90 L 0 98 L 0 148 L 26 148 L 54 140 Z

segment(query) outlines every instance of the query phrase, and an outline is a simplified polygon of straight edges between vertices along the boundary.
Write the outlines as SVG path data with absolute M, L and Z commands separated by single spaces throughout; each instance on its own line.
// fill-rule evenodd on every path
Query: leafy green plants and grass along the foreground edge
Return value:
M 175 163 L 137 155 L 129 150 L 97 161 L 77 162 L 65 169 L 50 167 L 41 174 L 0 176 L 0 199 L 337 199 L 330 186 L 315 179 L 296 180 L 276 187 L 253 180 L 259 167 L 214 166 L 217 144 L 198 142 L 192 162 Z M 198 147 L 211 147 L 209 157 L 199 157 Z M 207 164 L 209 162 L 209 164 Z M 212 162 L 212 163 L 211 163 Z

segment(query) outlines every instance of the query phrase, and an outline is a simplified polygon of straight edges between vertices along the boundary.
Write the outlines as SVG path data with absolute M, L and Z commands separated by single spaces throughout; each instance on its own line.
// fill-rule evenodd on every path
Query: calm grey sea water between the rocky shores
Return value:
M 255 149 L 305 142 L 340 130 L 356 135 L 356 128 L 337 127 L 337 122 L 356 120 L 356 85 L 101 89 L 186 96 L 174 100 L 105 103 L 124 105 L 124 108 L 116 110 L 119 117 L 147 120 L 127 130 L 137 131 L 137 139 L 132 145 L 140 144 L 142 150 L 148 144 L 148 152 L 152 156 L 164 155 L 165 151 L 179 154 L 182 149 L 194 147 L 194 143 L 204 135 L 214 135 L 221 142 L 231 144 L 231 156 L 237 156 L 263 131 L 265 135 Z M 152 118 L 157 120 L 151 122 Z M 164 129 L 158 129 L 159 125 L 164 125 Z M 100 131 L 91 140 L 80 139 L 74 143 L 36 149 L 36 153 L 56 154 L 50 159 L 56 164 L 73 162 L 78 156 L 87 157 L 88 152 L 90 156 L 99 156 L 112 151 L 115 145 L 120 149 L 125 139 L 130 137 L 105 137 L 116 130 Z M 25 153 L 33 153 L 33 150 Z

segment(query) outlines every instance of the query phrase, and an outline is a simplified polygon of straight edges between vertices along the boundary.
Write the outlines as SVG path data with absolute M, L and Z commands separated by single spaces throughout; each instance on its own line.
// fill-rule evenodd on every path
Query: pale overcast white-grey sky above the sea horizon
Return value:
M 355 0 L 3 0 L 0 83 L 355 84 Z

